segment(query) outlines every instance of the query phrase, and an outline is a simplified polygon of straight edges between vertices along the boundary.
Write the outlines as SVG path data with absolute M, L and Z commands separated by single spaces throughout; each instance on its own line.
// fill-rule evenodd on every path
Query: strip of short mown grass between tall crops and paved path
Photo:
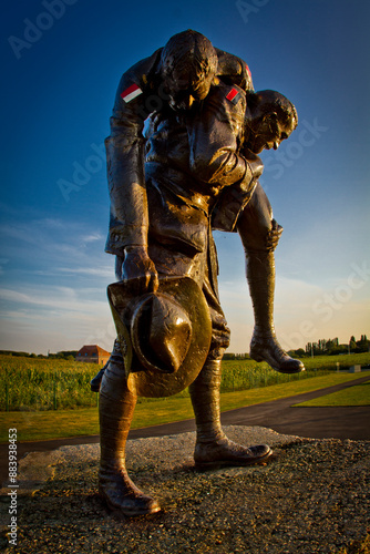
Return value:
M 370 371 L 362 373 L 327 373 L 316 379 L 304 379 L 247 391 L 226 392 L 222 394 L 220 399 L 222 411 L 319 390 L 364 376 L 370 378 Z M 354 389 L 354 387 L 347 390 L 351 389 Z M 152 402 L 137 404 L 131 427 L 132 429 L 140 429 L 172 421 L 182 421 L 193 417 L 189 398 L 169 397 L 157 399 L 155 404 Z M 18 430 L 19 441 L 99 434 L 97 408 L 0 412 L 0 442 L 7 442 L 8 429 L 10 428 Z

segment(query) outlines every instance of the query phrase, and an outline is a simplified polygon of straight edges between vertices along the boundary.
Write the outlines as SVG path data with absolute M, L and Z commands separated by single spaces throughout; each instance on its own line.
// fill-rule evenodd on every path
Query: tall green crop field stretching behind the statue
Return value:
M 265 362 L 224 360 L 220 391 L 250 390 L 318 378 L 328 371 L 335 371 L 337 362 L 341 369 L 354 363 L 369 363 L 370 353 L 306 358 L 304 361 L 307 371 L 285 376 L 274 371 Z M 96 407 L 97 394 L 91 392 L 89 384 L 96 370 L 97 366 L 94 363 L 0 356 L 0 412 Z M 179 397 L 188 398 L 187 390 L 181 392 Z M 148 400 L 138 401 L 144 403 Z

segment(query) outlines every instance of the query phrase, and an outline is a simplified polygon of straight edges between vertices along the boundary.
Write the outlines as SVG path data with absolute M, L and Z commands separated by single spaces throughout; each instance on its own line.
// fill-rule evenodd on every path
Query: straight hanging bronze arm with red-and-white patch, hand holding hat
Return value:
M 121 79 L 111 134 L 105 140 L 111 198 L 110 230 L 105 250 L 124 258 L 123 280 L 140 290 L 157 287 L 157 274 L 147 255 L 148 209 L 144 175 L 144 121 L 158 51 L 138 62 Z

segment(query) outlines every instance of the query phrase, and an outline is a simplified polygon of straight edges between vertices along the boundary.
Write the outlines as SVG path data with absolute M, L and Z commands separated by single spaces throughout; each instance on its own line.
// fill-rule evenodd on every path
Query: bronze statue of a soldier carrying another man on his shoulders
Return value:
M 145 132 L 145 182 L 142 126 L 123 104 L 136 102 L 131 106 L 136 114 L 143 92 L 137 82 L 126 86 L 129 72 L 106 141 L 112 199 L 107 252 L 117 256 L 120 278 L 109 287 L 109 297 L 119 341 L 101 384 L 99 479 L 109 506 L 129 516 L 160 510 L 125 470 L 137 394 L 168 396 L 189 386 L 198 465 L 258 463 L 271 454 L 267 445 L 235 444 L 222 431 L 220 362 L 229 330 L 218 300 L 210 226 L 237 229 L 249 259 L 259 249 L 266 253 L 258 257 L 261 268 L 247 274 L 259 295 L 254 356 L 269 356 L 279 371 L 302 369 L 280 351 L 266 306 L 274 280 L 269 256 L 280 229 L 257 182 L 263 164 L 256 155 L 289 136 L 297 125 L 295 107 L 274 91 L 246 92 L 245 80 L 241 88 L 229 75 L 217 76 L 216 51 L 194 31 L 171 39 L 156 71 L 158 66 L 169 101 L 152 114 Z M 234 73 L 240 76 L 243 71 Z M 146 73 L 144 78 L 148 82 Z M 255 206 L 248 209 L 251 202 Z M 248 226 L 259 207 L 267 229 L 254 242 Z M 263 286 L 256 274 L 263 276 Z

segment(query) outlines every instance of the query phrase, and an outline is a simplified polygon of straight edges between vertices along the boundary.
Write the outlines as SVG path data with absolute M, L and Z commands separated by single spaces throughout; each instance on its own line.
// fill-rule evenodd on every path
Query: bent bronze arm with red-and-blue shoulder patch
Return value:
M 192 173 L 209 186 L 225 188 L 213 215 L 213 228 L 222 230 L 234 229 L 264 168 L 257 155 L 240 153 L 245 109 L 244 91 L 220 83 L 191 122 Z

